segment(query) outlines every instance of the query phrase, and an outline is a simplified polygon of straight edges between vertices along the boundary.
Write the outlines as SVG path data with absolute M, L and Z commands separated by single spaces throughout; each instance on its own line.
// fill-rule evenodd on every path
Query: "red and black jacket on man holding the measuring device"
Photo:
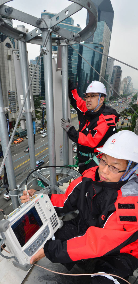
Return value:
M 116 183 L 96 181 L 96 169 L 86 170 L 64 194 L 50 196 L 57 213 L 79 210 L 80 228 L 76 237 L 44 245 L 44 253 L 52 262 L 68 263 L 118 253 L 138 258 L 138 177 L 133 174 L 127 181 Z

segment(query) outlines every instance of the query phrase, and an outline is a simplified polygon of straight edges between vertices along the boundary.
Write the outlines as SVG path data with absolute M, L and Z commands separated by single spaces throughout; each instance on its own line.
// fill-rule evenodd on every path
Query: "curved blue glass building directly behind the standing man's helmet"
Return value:
M 85 43 L 88 47 L 103 52 L 103 45 L 99 43 Z M 75 45 L 74 45 L 75 46 Z M 75 47 L 76 48 L 76 47 Z M 79 45 L 79 53 L 100 73 L 102 64 L 102 54 L 92 51 L 85 46 Z M 99 75 L 89 66 L 89 64 L 79 56 L 77 66 L 77 93 L 83 97 L 88 85 L 99 80 Z

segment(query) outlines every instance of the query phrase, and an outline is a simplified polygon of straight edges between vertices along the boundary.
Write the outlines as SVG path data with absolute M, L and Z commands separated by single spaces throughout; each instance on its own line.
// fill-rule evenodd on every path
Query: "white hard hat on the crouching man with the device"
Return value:
M 138 135 L 129 130 L 118 131 L 97 150 L 117 159 L 138 163 Z

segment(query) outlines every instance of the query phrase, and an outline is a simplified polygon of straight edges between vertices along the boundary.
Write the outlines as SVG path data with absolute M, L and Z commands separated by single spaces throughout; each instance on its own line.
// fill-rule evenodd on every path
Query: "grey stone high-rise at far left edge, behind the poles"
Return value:
M 4 19 L 12 26 L 12 20 Z M 10 111 L 9 125 L 13 128 L 17 120 L 17 97 L 14 63 L 12 49 L 17 48 L 17 41 L 0 33 L 0 80 L 3 94 L 4 106 L 8 106 Z

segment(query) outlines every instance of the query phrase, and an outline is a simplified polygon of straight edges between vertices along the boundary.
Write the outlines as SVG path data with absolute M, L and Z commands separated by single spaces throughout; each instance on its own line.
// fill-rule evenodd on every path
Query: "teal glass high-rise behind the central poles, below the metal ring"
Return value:
M 44 10 L 44 12 L 41 13 L 41 17 L 43 15 L 48 15 L 51 18 L 55 16 L 56 14 L 47 12 Z M 72 31 L 72 32 L 80 32 L 81 27 L 79 24 L 77 26 L 74 26 L 74 19 L 72 17 L 66 18 L 61 23 L 57 24 L 58 26 L 61 26 L 61 28 L 64 28 L 66 30 Z M 55 37 L 55 34 L 52 34 L 52 37 Z M 75 49 L 79 51 L 79 44 L 75 45 Z M 56 46 L 52 47 L 52 50 L 57 50 Z M 74 51 L 72 47 L 68 47 L 68 76 L 74 83 L 74 86 L 77 85 L 77 62 L 78 62 L 78 53 Z M 45 97 L 45 85 L 44 85 L 44 63 L 43 63 L 43 56 L 41 57 L 41 96 Z

